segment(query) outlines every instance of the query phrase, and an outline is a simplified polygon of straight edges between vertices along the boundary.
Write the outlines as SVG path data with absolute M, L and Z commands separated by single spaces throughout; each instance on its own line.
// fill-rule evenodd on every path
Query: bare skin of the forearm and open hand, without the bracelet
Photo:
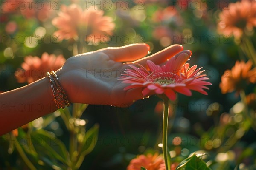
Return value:
M 128 65 L 139 63 L 147 67 L 145 63 L 148 59 L 160 65 L 182 50 L 181 45 L 172 45 L 144 57 L 148 54 L 145 43 L 104 48 L 70 57 L 56 74 L 70 103 L 124 107 L 143 98 L 141 89 L 124 91 L 127 84 L 118 81 L 122 71 L 129 68 Z M 46 77 L 0 94 L 0 136 L 56 111 L 53 99 Z

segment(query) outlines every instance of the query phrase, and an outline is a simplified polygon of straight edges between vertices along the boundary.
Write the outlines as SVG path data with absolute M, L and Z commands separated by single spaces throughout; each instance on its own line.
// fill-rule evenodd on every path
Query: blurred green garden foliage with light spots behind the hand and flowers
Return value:
M 219 14 L 236 0 L 33 2 L 32 8 L 21 10 L 22 4 L 11 7 L 14 1 L 1 0 L 0 91 L 27 84 L 15 77 L 26 56 L 41 58 L 47 52 L 68 59 L 76 54 L 75 38 L 60 41 L 58 35 L 54 35 L 58 28 L 52 20 L 58 17 L 63 5 L 75 3 L 86 11 L 88 6 L 99 4 L 98 9 L 113 19 L 115 28 L 108 41 L 100 40 L 96 44 L 86 41 L 81 52 L 145 42 L 154 54 L 178 43 L 193 52 L 190 65 L 203 67 L 210 78 L 212 86 L 208 96 L 196 92 L 192 97 L 179 94 L 170 104 L 168 147 L 172 163 L 179 164 L 197 152 L 206 153 L 202 158 L 212 169 L 256 168 L 255 83 L 246 85 L 240 95 L 236 91 L 222 94 L 219 88 L 226 69 L 231 69 L 236 60 L 248 60 L 240 48 L 242 38 L 217 31 Z M 39 3 L 45 8 L 35 6 Z M 256 6 L 253 8 L 256 10 Z M 254 49 L 255 36 L 255 27 L 244 31 L 244 37 Z M 246 97 L 247 94 L 251 96 Z M 161 153 L 158 144 L 161 143 L 162 110 L 160 99 L 151 96 L 126 108 L 73 105 L 56 111 L 1 136 L 1 169 L 126 169 L 139 154 Z M 73 135 L 75 150 L 70 150 L 72 129 L 76 134 Z M 72 160 L 77 162 L 80 156 L 80 163 L 73 164 Z

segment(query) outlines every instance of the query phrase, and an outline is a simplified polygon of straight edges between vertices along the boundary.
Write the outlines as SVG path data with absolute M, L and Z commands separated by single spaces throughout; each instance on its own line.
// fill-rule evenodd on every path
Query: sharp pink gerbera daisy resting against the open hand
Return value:
M 207 95 L 204 89 L 209 89 L 205 85 L 211 85 L 209 78 L 206 75 L 201 75 L 201 68 L 197 65 L 189 68 L 189 64 L 185 62 L 189 59 L 189 55 L 181 53 L 177 57 L 172 57 L 165 65 L 155 65 L 152 61 L 148 60 L 147 65 L 150 69 L 148 71 L 142 65 L 137 68 L 130 65 L 132 69 L 125 70 L 119 80 L 123 83 L 131 84 L 124 88 L 129 90 L 132 88 L 143 88 L 143 96 L 149 94 L 165 94 L 169 99 L 176 99 L 176 92 L 191 96 L 191 90 L 198 91 Z

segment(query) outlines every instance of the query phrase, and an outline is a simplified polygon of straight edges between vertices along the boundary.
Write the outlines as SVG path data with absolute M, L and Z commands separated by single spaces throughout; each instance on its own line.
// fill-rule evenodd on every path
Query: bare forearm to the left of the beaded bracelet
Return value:
M 46 77 L 0 94 L 0 136 L 56 110 Z

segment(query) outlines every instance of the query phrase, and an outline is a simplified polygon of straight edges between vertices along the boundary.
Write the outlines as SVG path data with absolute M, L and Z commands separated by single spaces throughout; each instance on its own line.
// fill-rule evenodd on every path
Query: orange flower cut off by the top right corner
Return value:
M 240 38 L 244 29 L 252 30 L 256 26 L 256 1 L 242 0 L 230 3 L 219 15 L 218 32 Z

